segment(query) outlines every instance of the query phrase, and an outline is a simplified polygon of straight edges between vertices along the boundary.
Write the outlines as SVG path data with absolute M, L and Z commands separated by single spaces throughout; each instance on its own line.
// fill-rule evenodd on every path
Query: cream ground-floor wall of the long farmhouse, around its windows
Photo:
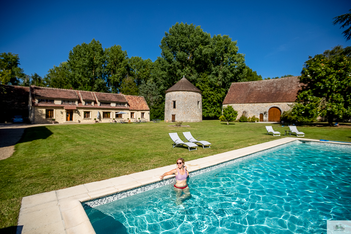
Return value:
M 34 120 L 32 123 L 52 123 L 52 119 L 46 118 L 46 109 L 54 110 L 54 119 L 56 123 L 65 123 L 67 111 L 63 107 L 32 107 L 34 109 Z M 121 110 L 109 110 L 109 109 L 89 109 L 89 108 L 77 108 L 77 110 L 73 111 L 73 122 L 76 123 L 94 123 L 94 118 L 100 123 L 109 123 L 113 121 L 115 118 L 116 121 L 124 119 L 127 120 L 129 118 L 130 121 L 135 122 L 136 120 L 146 120 L 150 121 L 150 112 L 148 110 L 145 111 L 133 111 L 133 110 L 122 110 L 127 114 L 123 114 L 122 118 L 116 118 L 116 112 L 120 112 Z M 97 119 L 97 112 L 100 112 L 100 118 Z M 84 118 L 84 112 L 89 112 L 89 118 Z M 110 118 L 103 118 L 103 112 L 110 112 Z M 131 118 L 130 113 L 134 112 L 134 118 Z M 144 113 L 144 118 L 141 118 L 141 113 Z

